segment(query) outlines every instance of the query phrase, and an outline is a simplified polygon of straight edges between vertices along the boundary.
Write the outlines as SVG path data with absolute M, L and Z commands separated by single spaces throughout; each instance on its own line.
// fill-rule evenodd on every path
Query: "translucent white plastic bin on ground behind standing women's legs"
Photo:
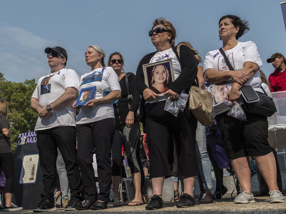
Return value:
M 163 191 L 162 191 L 162 199 L 164 202 L 174 200 L 174 178 L 175 177 L 169 177 L 165 179 L 164 181 Z M 135 197 L 133 179 L 127 178 L 127 179 L 124 179 L 124 181 L 125 181 L 125 187 L 126 187 L 126 192 L 127 192 L 127 198 L 130 201 L 134 199 Z M 152 182 L 149 179 L 149 177 L 145 177 L 145 186 L 146 186 L 145 199 L 146 199 L 146 203 L 149 203 L 148 199 L 150 199 L 153 195 Z

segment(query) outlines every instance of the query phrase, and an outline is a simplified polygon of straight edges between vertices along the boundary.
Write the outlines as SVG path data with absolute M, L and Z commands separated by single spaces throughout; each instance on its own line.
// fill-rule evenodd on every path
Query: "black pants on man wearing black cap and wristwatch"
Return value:
M 41 197 L 53 201 L 56 186 L 57 148 L 63 156 L 71 197 L 81 198 L 82 181 L 76 155 L 76 129 L 58 126 L 37 131 L 37 147 L 43 172 Z

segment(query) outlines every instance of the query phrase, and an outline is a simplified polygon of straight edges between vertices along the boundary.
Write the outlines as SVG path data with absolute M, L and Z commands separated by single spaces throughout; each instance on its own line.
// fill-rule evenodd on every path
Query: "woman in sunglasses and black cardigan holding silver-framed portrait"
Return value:
M 184 180 L 184 193 L 177 202 L 177 207 L 191 207 L 195 204 L 193 185 L 195 176 L 198 174 L 195 153 L 197 120 L 188 108 L 175 117 L 170 112 L 164 111 L 164 106 L 168 97 L 176 99 L 179 94 L 187 93 L 186 89 L 196 78 L 198 66 L 194 54 L 185 45 L 180 46 L 180 56 L 178 55 L 177 47 L 174 47 L 176 30 L 169 21 L 164 18 L 156 19 L 149 36 L 157 51 L 141 59 L 135 79 L 137 89 L 144 98 L 141 103 L 144 108 L 142 122 L 145 125 L 150 146 L 149 161 L 153 196 L 145 209 L 152 210 L 163 206 L 160 196 L 164 179 L 172 175 L 170 166 L 172 166 L 173 137 L 177 147 L 178 175 L 183 176 Z M 146 86 L 142 65 L 170 58 L 175 80 L 164 96 L 158 96 Z

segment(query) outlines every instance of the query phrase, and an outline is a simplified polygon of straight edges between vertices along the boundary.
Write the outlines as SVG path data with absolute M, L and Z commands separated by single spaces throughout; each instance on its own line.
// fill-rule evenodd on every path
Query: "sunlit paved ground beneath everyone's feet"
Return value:
M 197 201 L 197 199 L 196 199 Z M 176 208 L 175 202 L 166 202 L 162 209 L 154 211 L 146 211 L 145 205 L 136 206 L 136 207 L 112 207 L 109 205 L 109 209 L 102 211 L 64 211 L 63 208 L 58 208 L 57 211 L 53 213 L 57 214 L 68 214 L 68 213 L 128 213 L 128 214 L 145 214 L 145 213 L 216 213 L 216 214 L 225 214 L 225 213 L 286 213 L 286 203 L 276 203 L 270 204 L 269 197 L 256 197 L 256 203 L 250 204 L 234 204 L 232 198 L 224 198 L 222 202 L 214 202 L 211 204 L 197 204 L 191 208 Z M 31 210 L 24 211 L 15 211 L 9 213 L 33 213 Z

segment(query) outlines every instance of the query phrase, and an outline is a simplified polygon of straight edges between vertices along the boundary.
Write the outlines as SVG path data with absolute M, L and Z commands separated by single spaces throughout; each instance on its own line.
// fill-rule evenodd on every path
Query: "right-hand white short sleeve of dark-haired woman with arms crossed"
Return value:
M 244 48 L 244 62 L 253 62 L 258 65 L 259 68 L 262 66 L 260 55 L 257 51 L 257 47 L 253 41 L 247 42 Z

